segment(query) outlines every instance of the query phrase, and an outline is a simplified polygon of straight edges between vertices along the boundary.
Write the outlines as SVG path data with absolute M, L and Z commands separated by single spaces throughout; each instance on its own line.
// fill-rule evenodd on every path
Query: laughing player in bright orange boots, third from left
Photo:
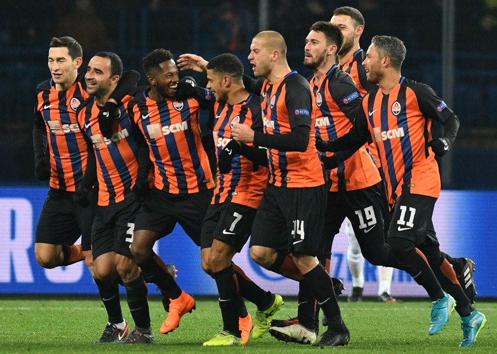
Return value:
M 156 49 L 143 59 L 150 88 L 129 103 L 129 114 L 145 136 L 154 164 L 154 188 L 135 221 L 131 253 L 135 262 L 170 299 L 161 333 L 179 326 L 195 309 L 152 247 L 170 234 L 176 223 L 200 246 L 202 221 L 212 198 L 214 180 L 202 146 L 199 109 L 210 107 L 210 91 L 203 98 L 176 99 L 178 68 L 169 50 Z

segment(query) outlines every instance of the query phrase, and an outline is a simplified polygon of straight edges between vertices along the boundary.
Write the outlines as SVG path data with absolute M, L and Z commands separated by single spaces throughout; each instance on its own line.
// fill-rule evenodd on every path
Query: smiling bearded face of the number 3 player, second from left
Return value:
M 109 92 L 112 81 L 110 64 L 109 58 L 94 56 L 90 59 L 85 74 L 86 91 L 90 95 L 100 98 Z

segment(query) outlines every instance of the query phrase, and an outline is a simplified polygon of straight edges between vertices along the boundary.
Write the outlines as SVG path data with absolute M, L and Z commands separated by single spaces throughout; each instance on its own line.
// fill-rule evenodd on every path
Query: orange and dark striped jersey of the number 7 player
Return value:
M 216 102 L 214 113 L 212 134 L 218 159 L 223 148 L 233 139 L 231 129 L 235 124 L 249 125 L 255 131 L 263 130 L 259 98 L 253 94 L 236 105 Z M 254 164 L 240 155 L 233 158 L 231 167 L 229 173 L 220 173 L 218 169 L 218 183 L 211 203 L 218 204 L 229 200 L 258 208 L 267 183 L 267 169 L 259 166 L 257 171 L 254 171 Z

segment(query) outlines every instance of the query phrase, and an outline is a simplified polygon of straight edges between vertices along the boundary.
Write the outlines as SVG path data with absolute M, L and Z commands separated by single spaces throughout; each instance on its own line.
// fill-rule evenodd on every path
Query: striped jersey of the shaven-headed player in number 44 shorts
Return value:
M 274 84 L 264 80 L 261 90 L 261 109 L 264 133 L 285 134 L 292 128 L 314 126 L 309 83 L 291 72 Z M 277 187 L 316 187 L 326 181 L 326 172 L 315 147 L 316 132 L 310 130 L 305 152 L 267 149 L 268 183 Z

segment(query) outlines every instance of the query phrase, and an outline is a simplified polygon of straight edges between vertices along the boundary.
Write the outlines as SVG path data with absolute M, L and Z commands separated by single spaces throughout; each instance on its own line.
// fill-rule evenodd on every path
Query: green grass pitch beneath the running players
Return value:
M 165 312 L 159 298 L 150 299 L 152 326 L 156 344 L 93 344 L 106 322 L 106 313 L 95 297 L 0 297 L 0 353 L 245 353 L 293 354 L 326 350 L 340 353 L 472 353 L 497 352 L 497 303 L 478 301 L 475 305 L 487 317 L 487 324 L 471 348 L 459 348 L 462 340 L 460 318 L 454 312 L 447 327 L 435 336 L 428 335 L 431 304 L 427 301 L 399 301 L 380 304 L 375 301 L 347 303 L 340 300 L 343 318 L 351 339 L 346 347 L 319 349 L 308 345 L 279 342 L 266 333 L 250 338 L 245 347 L 202 347 L 221 328 L 221 314 L 214 298 L 198 297 L 197 309 L 187 314 L 181 326 L 163 335 L 159 332 Z M 124 317 L 130 322 L 126 302 L 121 301 Z M 255 307 L 247 304 L 254 314 Z M 275 318 L 286 318 L 297 311 L 295 298 L 285 299 L 285 306 Z M 321 332 L 323 328 L 321 328 Z M 322 352 L 322 351 L 320 351 Z

